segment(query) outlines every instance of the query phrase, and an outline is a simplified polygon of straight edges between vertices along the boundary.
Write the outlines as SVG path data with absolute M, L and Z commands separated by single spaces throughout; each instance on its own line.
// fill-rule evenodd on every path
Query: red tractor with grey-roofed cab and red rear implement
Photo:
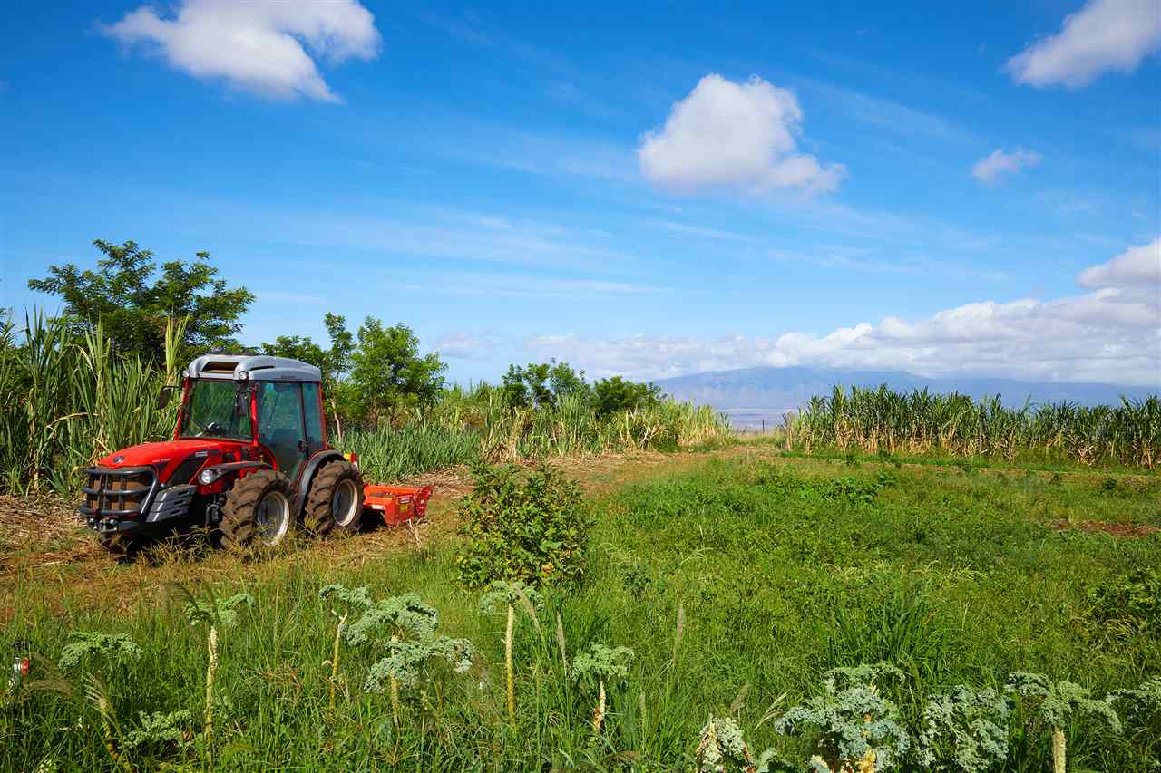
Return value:
M 365 507 L 389 522 L 423 518 L 430 487 L 365 486 L 355 455 L 327 445 L 320 381 L 318 368 L 287 357 L 197 357 L 182 376 L 173 440 L 85 470 L 81 519 L 123 555 L 175 527 L 204 527 L 245 550 L 276 546 L 296 525 L 316 536 L 355 532 Z M 159 409 L 173 389 L 163 388 Z

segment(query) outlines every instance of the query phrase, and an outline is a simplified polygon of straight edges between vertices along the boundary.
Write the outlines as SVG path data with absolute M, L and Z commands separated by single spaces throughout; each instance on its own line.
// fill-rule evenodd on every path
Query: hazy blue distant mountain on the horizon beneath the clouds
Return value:
M 693 400 L 719 410 L 749 409 L 753 412 L 780 414 L 794 410 L 814 395 L 825 395 L 831 386 L 878 386 L 887 384 L 897 391 L 926 386 L 932 392 L 960 392 L 979 398 L 1000 395 L 1004 405 L 1032 403 L 1080 403 L 1081 405 L 1119 404 L 1120 396 L 1145 399 L 1158 388 L 1117 386 L 1115 384 L 1030 382 L 1016 378 L 926 378 L 902 370 L 839 370 L 829 368 L 743 368 L 677 376 L 656 382 L 665 393 L 680 400 Z

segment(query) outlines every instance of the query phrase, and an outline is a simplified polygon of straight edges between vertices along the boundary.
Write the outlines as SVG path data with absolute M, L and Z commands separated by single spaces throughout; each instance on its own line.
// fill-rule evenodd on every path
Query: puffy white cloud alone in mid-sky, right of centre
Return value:
M 736 84 L 709 74 L 673 104 L 661 130 L 646 132 L 637 161 L 649 181 L 679 193 L 714 187 L 834 190 L 845 167 L 799 153 L 801 127 L 794 92 L 757 75 Z

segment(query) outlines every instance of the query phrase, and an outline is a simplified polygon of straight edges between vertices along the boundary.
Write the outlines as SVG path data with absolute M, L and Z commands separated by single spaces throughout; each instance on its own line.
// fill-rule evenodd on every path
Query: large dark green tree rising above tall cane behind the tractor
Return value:
M 96 269 L 75 263 L 50 266 L 49 276 L 30 280 L 29 289 L 64 301 L 64 316 L 79 331 L 103 323 L 115 351 L 164 361 L 166 323 L 187 319 L 183 346 L 199 352 L 238 351 L 236 335 L 241 316 L 254 296 L 244 287 L 231 288 L 218 279 L 209 253 L 194 260 L 160 265 L 153 253 L 136 241 L 116 245 L 96 239 L 103 255 Z

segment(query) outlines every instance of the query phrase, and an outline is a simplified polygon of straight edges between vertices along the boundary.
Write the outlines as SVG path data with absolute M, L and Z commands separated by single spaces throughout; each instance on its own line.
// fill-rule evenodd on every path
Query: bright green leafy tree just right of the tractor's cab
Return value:
M 444 389 L 447 368 L 437 354 L 419 354 L 419 339 L 403 323 L 384 327 L 368 317 L 351 354 L 351 381 L 365 418 L 394 422 L 399 412 L 427 407 Z

